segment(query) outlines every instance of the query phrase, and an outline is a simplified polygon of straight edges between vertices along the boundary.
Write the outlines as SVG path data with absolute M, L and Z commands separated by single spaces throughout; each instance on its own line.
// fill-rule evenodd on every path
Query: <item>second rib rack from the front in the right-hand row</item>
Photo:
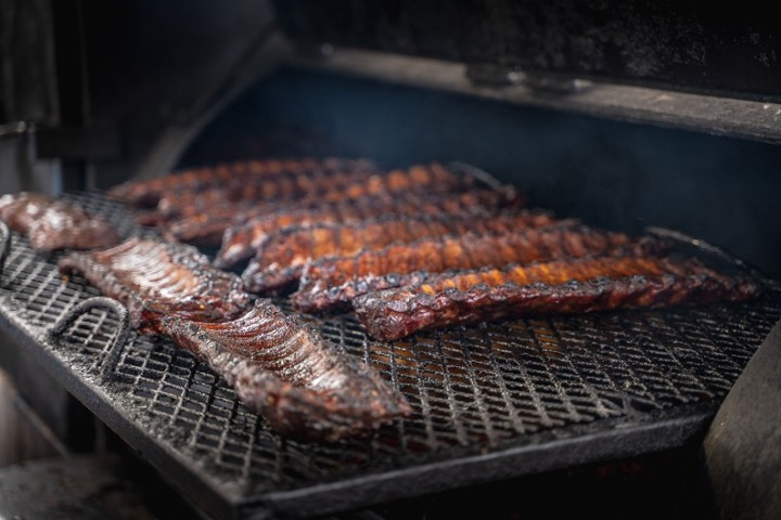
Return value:
M 338 310 L 367 292 L 412 285 L 421 273 L 500 268 L 556 258 L 578 258 L 611 250 L 656 253 L 668 247 L 653 237 L 635 239 L 622 233 L 581 224 L 553 224 L 499 234 L 466 233 L 392 244 L 346 257 L 309 263 L 291 297 L 299 311 Z

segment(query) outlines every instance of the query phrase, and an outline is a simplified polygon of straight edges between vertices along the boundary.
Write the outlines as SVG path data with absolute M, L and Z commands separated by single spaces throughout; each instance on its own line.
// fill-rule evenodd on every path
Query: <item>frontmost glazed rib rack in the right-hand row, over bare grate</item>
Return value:
M 593 257 L 440 274 L 360 296 L 353 306 L 371 336 L 393 340 L 505 317 L 738 301 L 759 291 L 693 258 Z

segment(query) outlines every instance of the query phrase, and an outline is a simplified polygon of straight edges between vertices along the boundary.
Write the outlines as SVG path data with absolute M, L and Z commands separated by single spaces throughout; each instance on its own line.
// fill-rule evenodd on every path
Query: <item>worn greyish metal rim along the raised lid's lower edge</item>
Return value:
M 573 114 L 645 122 L 715 135 L 781 144 L 779 103 L 681 92 L 615 82 L 529 73 L 496 73 L 476 81 L 475 67 L 457 62 L 340 48 L 328 56 L 294 54 L 290 63 L 387 83 L 464 93 L 502 103 L 566 110 Z M 497 84 L 501 78 L 514 79 Z M 491 81 L 490 84 L 486 84 Z

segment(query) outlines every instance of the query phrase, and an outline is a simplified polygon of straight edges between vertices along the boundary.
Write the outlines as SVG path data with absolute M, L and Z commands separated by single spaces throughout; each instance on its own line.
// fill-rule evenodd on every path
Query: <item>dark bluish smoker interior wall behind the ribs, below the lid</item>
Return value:
M 781 278 L 781 147 L 284 69 L 236 100 L 180 165 L 255 156 L 463 160 L 561 216 L 673 227 Z

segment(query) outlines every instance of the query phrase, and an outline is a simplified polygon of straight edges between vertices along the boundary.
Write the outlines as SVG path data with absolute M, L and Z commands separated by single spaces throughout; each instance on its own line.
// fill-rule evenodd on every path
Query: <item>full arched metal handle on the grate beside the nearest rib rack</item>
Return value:
M 105 309 L 113 311 L 119 318 L 119 330 L 114 336 L 114 339 L 104 350 L 103 361 L 99 365 L 100 378 L 105 381 L 111 378 L 116 369 L 119 358 L 121 356 L 125 347 L 130 338 L 130 320 L 128 318 L 128 312 L 125 306 L 119 303 L 113 298 L 106 298 L 104 296 L 95 296 L 88 300 L 85 300 L 71 309 L 64 314 L 48 333 L 49 340 L 56 342 L 57 338 L 65 333 L 68 326 L 71 326 L 81 314 L 89 312 L 92 309 Z

